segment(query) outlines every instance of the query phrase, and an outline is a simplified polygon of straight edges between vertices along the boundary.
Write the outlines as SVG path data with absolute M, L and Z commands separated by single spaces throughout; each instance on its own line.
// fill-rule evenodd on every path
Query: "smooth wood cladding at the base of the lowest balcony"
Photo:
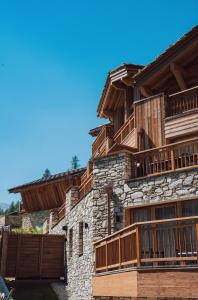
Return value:
M 95 297 L 196 298 L 198 270 L 126 271 L 93 277 Z

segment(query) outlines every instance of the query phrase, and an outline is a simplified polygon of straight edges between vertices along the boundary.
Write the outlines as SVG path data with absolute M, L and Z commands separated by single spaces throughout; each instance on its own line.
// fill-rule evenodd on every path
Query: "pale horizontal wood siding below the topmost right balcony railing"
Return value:
M 176 139 L 198 133 L 198 109 L 165 120 L 165 138 Z

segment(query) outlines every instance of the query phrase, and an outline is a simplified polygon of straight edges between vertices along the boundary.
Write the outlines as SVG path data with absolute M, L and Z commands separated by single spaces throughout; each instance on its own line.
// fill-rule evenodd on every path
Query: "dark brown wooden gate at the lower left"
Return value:
M 14 234 L 1 237 L 1 274 L 15 278 L 64 277 L 63 235 Z

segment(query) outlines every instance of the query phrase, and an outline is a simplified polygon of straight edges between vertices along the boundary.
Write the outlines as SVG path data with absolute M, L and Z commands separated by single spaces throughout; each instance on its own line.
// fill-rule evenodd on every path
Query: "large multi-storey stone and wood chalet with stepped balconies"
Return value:
M 67 237 L 70 298 L 197 298 L 198 27 L 111 71 L 97 111 L 92 160 L 49 217 Z

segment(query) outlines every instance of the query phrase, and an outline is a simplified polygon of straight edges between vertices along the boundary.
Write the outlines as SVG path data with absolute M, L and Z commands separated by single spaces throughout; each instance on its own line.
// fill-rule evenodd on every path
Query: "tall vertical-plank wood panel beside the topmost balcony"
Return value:
M 139 150 L 163 146 L 164 95 L 156 95 L 134 103 Z

